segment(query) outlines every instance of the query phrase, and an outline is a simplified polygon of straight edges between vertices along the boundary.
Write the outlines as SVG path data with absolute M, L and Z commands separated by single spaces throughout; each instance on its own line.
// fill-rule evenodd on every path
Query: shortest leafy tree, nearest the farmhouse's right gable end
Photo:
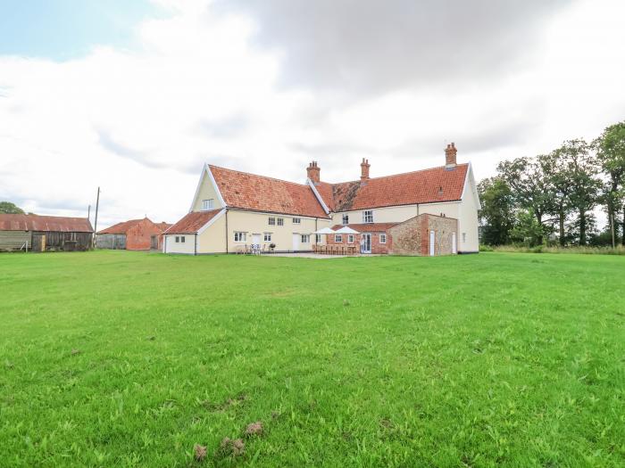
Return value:
M 503 245 L 510 242 L 514 226 L 514 200 L 510 187 L 501 177 L 483 179 L 478 185 L 479 220 L 482 225 L 482 242 Z

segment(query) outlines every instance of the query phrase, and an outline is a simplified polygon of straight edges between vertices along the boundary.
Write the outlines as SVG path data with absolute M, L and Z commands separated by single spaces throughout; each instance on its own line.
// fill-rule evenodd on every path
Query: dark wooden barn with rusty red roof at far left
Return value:
M 87 218 L 0 214 L 0 250 L 88 250 L 93 232 Z

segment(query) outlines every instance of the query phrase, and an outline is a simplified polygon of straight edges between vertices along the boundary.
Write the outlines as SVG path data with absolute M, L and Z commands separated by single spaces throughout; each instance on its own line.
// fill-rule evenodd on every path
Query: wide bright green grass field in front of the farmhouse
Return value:
M 0 465 L 623 466 L 624 273 L 0 255 Z

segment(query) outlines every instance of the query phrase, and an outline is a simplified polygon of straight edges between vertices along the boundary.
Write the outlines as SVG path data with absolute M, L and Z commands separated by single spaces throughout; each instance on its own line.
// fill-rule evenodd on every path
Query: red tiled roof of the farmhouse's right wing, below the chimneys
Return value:
M 462 197 L 468 164 L 452 169 L 444 166 L 375 177 L 364 185 L 360 181 L 316 185 L 317 192 L 334 212 L 353 209 L 458 201 Z

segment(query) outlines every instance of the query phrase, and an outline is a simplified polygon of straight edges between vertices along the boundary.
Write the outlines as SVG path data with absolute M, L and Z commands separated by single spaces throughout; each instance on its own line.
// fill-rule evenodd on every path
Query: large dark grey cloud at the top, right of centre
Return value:
M 218 0 L 255 41 L 284 52 L 287 85 L 383 92 L 489 80 L 521 66 L 548 17 L 572 0 Z

